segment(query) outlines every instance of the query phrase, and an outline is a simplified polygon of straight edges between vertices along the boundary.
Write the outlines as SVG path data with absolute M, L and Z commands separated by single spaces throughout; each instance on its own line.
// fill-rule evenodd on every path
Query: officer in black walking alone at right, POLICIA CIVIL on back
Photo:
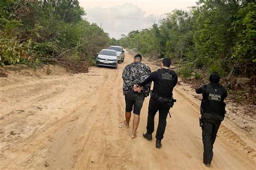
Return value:
M 197 94 L 203 94 L 201 101 L 201 119 L 203 144 L 204 144 L 204 164 L 211 166 L 213 157 L 213 144 L 216 139 L 221 121 L 225 116 L 224 99 L 227 97 L 227 90 L 219 84 L 220 76 L 218 73 L 210 75 L 210 84 L 196 89 Z

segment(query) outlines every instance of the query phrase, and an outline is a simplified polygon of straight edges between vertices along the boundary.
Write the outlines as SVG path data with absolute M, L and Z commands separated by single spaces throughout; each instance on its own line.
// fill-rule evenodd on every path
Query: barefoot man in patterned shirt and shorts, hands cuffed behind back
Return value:
M 144 102 L 144 98 L 149 96 L 151 83 L 143 87 L 143 93 L 138 93 L 136 84 L 142 83 L 149 77 L 151 70 L 142 61 L 142 55 L 134 56 L 134 61 L 127 65 L 123 70 L 123 94 L 125 95 L 125 127 L 129 128 L 131 119 L 131 111 L 133 111 L 132 138 L 136 138 L 136 130 L 139 125 L 140 110 Z

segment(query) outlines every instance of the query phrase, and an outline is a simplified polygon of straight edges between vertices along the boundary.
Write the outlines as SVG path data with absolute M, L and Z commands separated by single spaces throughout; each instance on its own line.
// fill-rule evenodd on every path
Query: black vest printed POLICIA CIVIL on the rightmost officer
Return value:
M 204 113 L 214 115 L 225 115 L 224 95 L 226 90 L 223 86 L 212 86 L 211 84 L 205 85 L 203 90 L 203 100 L 201 108 Z

